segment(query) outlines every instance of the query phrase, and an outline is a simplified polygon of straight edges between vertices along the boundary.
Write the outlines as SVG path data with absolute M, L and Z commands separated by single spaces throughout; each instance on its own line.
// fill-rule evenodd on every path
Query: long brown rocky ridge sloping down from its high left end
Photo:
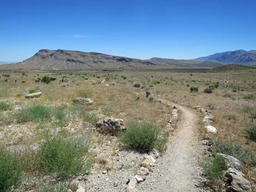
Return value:
M 1 65 L 1 70 L 135 70 L 135 69 L 173 69 L 173 68 L 212 68 L 220 64 L 212 62 L 175 60 L 169 62 L 140 60 L 102 53 L 68 51 L 63 49 L 41 49 L 33 57 L 17 64 Z

